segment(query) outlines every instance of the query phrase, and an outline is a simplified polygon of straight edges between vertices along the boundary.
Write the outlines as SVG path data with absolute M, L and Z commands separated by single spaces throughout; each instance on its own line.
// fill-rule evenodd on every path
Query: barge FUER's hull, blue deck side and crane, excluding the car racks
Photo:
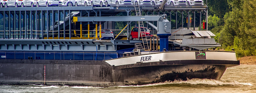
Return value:
M 219 80 L 227 67 L 240 64 L 235 52 L 204 50 L 220 46 L 210 38 L 214 36 L 210 31 L 171 29 L 165 14 L 131 17 L 122 21 L 157 21 L 157 36 L 143 35 L 139 25 L 137 40 L 70 39 L 71 35 L 54 39 L 54 34 L 49 39 L 49 33 L 42 34 L 46 39 L 1 39 L 0 83 L 108 87 L 192 78 Z M 109 18 L 104 20 L 118 17 Z

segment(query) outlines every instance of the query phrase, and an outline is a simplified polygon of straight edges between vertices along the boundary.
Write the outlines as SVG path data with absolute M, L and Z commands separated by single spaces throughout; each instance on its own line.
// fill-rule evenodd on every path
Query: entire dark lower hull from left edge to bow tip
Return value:
M 219 80 L 239 61 L 176 60 L 111 66 L 95 60 L 0 60 L 1 84 L 83 85 L 108 87 L 143 85 L 192 78 Z M 215 62 L 215 64 L 214 64 Z

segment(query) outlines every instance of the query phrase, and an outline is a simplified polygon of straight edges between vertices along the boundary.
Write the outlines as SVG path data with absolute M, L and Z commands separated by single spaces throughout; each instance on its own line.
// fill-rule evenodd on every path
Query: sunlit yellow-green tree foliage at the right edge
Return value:
M 226 50 L 234 48 L 238 57 L 256 54 L 255 1 L 230 0 L 232 11 L 224 16 L 225 25 L 219 33 L 218 41 Z

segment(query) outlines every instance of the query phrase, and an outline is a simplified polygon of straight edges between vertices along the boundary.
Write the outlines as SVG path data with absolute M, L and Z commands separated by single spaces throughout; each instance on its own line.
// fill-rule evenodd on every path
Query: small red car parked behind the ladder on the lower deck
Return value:
M 141 27 L 140 28 L 141 32 L 144 33 L 144 30 L 146 30 L 146 36 L 153 36 L 150 34 L 150 30 L 148 28 L 143 28 Z M 145 36 L 145 35 L 143 35 Z M 138 27 L 134 27 L 132 28 L 132 31 L 131 31 L 131 34 L 130 34 L 130 37 L 129 37 L 130 40 L 133 40 L 133 39 L 138 39 Z

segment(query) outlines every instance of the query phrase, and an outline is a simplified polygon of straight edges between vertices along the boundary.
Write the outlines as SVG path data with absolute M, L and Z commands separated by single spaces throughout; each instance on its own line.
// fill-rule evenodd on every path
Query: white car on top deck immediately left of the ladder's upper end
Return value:
M 133 5 L 133 0 L 106 0 L 105 6 Z

